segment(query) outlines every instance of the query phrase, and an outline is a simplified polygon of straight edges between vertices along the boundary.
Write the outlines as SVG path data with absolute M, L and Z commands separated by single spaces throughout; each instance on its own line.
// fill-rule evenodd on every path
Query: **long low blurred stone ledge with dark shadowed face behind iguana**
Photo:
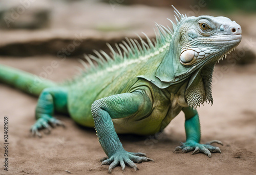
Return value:
M 12 33 L 11 33 L 12 34 Z M 83 58 L 83 54 L 94 54 L 93 50 L 103 50 L 110 53 L 106 42 L 108 42 L 115 49 L 115 43 L 122 43 L 125 35 L 117 35 L 116 33 L 109 33 L 106 36 L 102 32 L 86 30 L 83 33 L 77 34 L 55 34 L 46 35 L 44 31 L 37 32 L 20 32 L 24 39 L 13 41 L 9 43 L 0 42 L 1 56 L 38 56 L 38 55 L 55 55 L 58 58 L 78 57 Z M 17 35 L 16 35 L 17 36 Z M 134 35 L 126 35 L 129 38 L 139 38 Z M 148 36 L 152 38 L 152 36 Z M 141 35 L 141 38 L 146 41 L 146 37 Z

